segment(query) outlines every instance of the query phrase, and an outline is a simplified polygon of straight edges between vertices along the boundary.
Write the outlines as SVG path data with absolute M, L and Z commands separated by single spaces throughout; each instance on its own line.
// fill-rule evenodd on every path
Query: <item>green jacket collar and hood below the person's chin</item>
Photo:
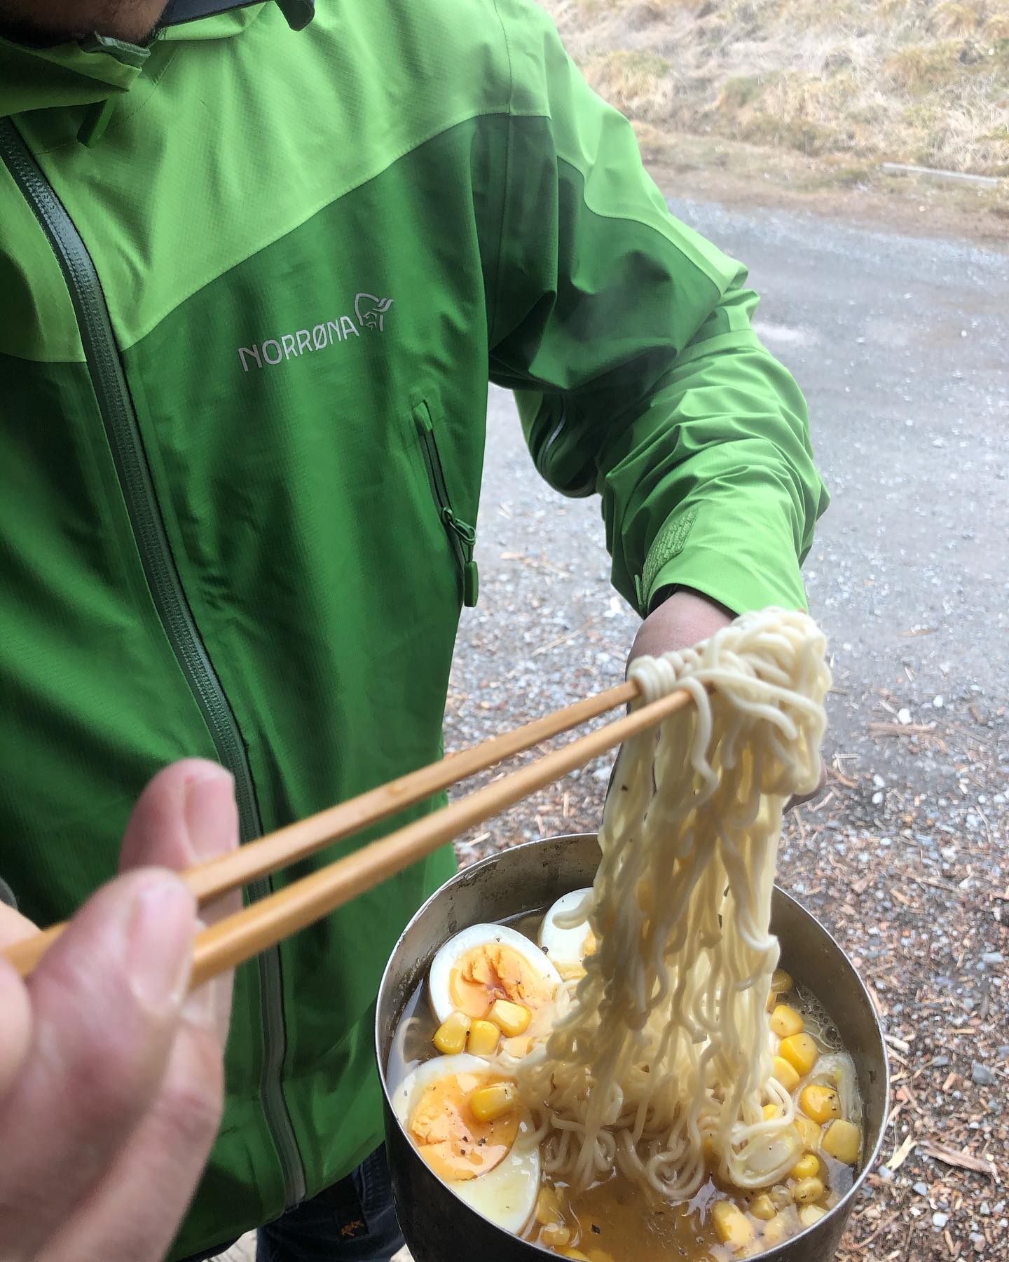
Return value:
M 276 0 L 299 30 L 312 19 L 312 0 Z M 114 101 L 130 91 L 159 40 L 231 39 L 259 18 L 262 4 L 241 0 L 174 0 L 151 44 L 140 47 L 105 35 L 49 48 L 0 38 L 0 119 L 28 110 Z

